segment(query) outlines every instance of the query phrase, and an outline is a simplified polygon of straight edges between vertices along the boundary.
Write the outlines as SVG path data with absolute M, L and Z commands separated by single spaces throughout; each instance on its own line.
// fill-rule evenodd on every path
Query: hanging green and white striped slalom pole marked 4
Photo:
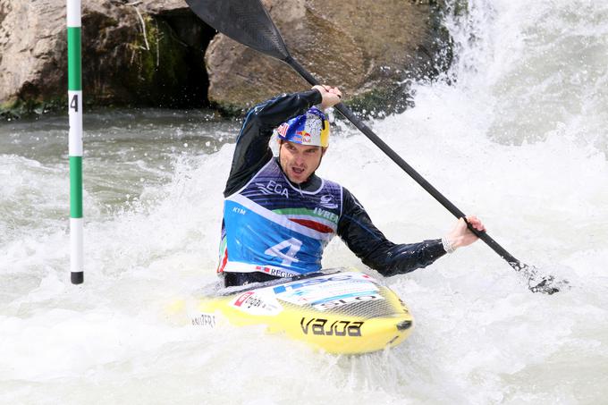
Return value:
M 68 111 L 70 115 L 70 270 L 72 284 L 84 281 L 82 219 L 82 73 L 80 0 L 67 0 Z

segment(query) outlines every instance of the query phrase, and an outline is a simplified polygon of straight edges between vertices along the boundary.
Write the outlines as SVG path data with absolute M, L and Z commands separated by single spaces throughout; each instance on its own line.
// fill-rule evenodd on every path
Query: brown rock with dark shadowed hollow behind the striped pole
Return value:
M 65 8 L 64 0 L 0 0 L 0 110 L 67 103 Z M 201 44 L 215 31 L 182 0 L 83 0 L 81 10 L 85 103 L 206 102 Z

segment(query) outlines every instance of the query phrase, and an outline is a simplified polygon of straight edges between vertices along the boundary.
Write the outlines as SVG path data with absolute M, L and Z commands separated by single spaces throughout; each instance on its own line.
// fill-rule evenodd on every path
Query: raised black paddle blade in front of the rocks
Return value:
M 259 0 L 186 0 L 190 9 L 215 30 L 262 54 L 290 57 L 281 33 Z

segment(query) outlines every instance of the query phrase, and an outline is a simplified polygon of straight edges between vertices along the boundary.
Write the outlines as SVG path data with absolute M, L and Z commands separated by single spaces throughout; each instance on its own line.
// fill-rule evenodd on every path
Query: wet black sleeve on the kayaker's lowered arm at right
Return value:
M 365 208 L 350 191 L 343 190 L 338 235 L 366 265 L 385 276 L 410 273 L 445 254 L 441 239 L 396 244 L 384 237 Z

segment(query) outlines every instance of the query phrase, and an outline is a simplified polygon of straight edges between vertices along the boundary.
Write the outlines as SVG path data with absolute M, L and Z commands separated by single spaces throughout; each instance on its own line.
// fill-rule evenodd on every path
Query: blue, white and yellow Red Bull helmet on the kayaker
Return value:
M 317 107 L 308 109 L 306 114 L 283 122 L 276 129 L 279 139 L 301 145 L 327 148 L 329 146 L 329 121 Z

